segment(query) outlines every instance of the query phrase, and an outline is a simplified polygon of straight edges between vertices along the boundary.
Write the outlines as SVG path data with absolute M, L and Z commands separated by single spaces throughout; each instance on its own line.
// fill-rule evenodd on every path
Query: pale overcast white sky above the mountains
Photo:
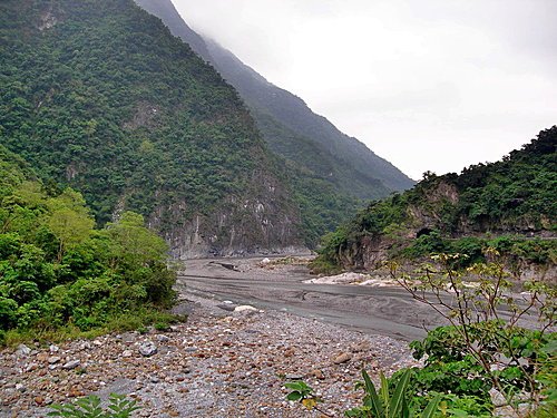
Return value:
M 413 178 L 557 124 L 557 0 L 173 0 Z

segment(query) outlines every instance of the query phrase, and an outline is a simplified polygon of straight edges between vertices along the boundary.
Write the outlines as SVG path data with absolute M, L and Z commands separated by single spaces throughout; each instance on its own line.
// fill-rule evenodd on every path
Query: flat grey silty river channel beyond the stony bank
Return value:
M 189 260 L 178 276 L 182 292 L 317 319 L 368 334 L 414 340 L 441 323 L 401 288 L 304 283 L 304 264 L 261 263 L 260 259 Z

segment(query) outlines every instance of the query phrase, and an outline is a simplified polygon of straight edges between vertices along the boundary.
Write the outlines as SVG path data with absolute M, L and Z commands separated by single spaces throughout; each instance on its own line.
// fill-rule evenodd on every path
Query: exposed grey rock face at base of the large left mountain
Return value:
M 258 177 L 258 176 L 256 176 Z M 195 215 L 187 223 L 180 223 L 180 206 L 168 208 L 170 222 L 166 240 L 176 259 L 212 255 L 237 255 L 248 253 L 291 253 L 304 250 L 299 236 L 299 214 L 295 208 L 286 210 L 284 187 L 271 177 L 260 177 L 245 196 L 229 196 L 211 215 Z M 157 211 L 153 218 L 158 226 L 165 211 Z

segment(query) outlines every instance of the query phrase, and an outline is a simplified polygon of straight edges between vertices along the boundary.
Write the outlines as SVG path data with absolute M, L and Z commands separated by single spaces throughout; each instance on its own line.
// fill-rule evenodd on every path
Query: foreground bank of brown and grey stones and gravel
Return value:
M 45 417 L 52 402 L 127 393 L 137 417 L 319 417 L 285 400 L 303 379 L 332 415 L 360 402 L 362 367 L 413 363 L 404 342 L 277 311 L 189 297 L 186 323 L 0 353 L 0 416 Z

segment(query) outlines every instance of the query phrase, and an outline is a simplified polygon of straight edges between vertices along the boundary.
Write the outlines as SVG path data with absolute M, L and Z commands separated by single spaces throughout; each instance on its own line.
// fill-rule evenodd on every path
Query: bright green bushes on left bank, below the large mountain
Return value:
M 0 146 L 0 343 L 169 320 L 165 242 L 133 212 L 94 225 L 79 193 L 42 184 Z

